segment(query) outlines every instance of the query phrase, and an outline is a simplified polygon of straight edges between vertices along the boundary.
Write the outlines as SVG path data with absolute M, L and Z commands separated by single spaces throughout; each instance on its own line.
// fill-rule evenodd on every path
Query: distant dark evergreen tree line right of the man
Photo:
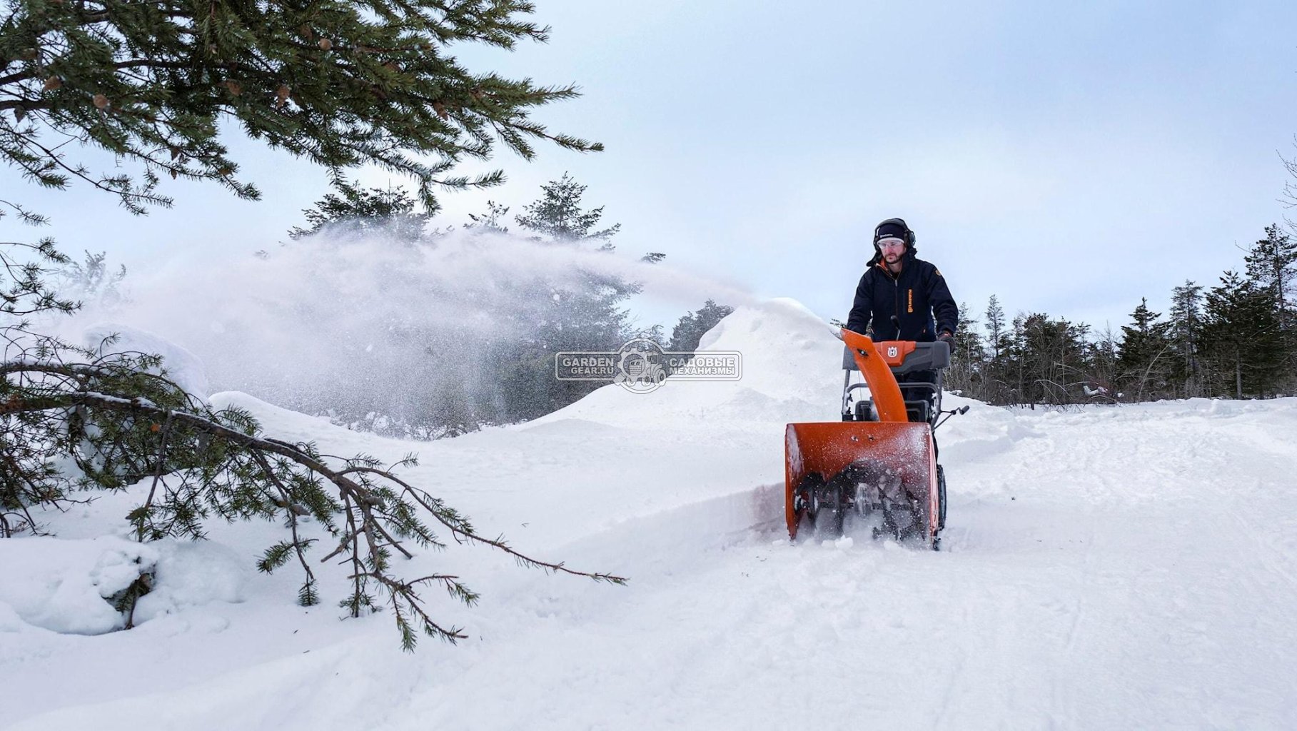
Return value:
M 1185 281 L 1170 310 L 1141 299 L 1119 333 L 1044 312 L 961 307 L 947 385 L 995 404 L 1297 394 L 1297 240 L 1278 224 L 1214 286 Z

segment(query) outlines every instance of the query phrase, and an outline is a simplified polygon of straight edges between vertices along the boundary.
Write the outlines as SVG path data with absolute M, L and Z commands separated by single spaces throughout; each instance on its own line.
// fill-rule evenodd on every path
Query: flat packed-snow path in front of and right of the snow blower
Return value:
M 650 553 L 625 596 L 392 728 L 1291 728 L 1297 400 L 1214 406 L 1019 415 L 1034 435 L 951 460 L 944 553 L 607 537 Z

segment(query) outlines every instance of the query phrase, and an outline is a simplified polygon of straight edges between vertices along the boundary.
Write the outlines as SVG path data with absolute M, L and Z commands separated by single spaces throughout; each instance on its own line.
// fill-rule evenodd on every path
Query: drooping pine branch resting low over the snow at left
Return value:
M 445 627 L 429 616 L 416 591 L 419 586 L 440 583 L 466 604 L 471 605 L 477 600 L 477 595 L 458 577 L 432 574 L 406 581 L 393 573 L 393 551 L 406 559 L 414 556 L 403 546 L 406 539 L 424 546 L 440 546 L 415 513 L 419 508 L 450 529 L 457 540 L 503 551 L 523 566 L 625 583 L 623 577 L 578 572 L 562 563 L 527 556 L 502 538 L 492 539 L 477 534 L 454 509 L 406 482 L 374 458 L 359 455 L 344 460 L 340 468 L 331 467 L 324 461 L 329 458 L 316 452 L 313 446 L 265 437 L 259 434 L 256 423 L 240 412 L 204 411 L 165 377 L 141 375 L 139 371 L 137 359 L 93 364 L 23 360 L 0 363 L 0 384 L 26 384 L 17 390 L 10 388 L 0 393 L 0 424 L 13 419 L 45 419 L 47 428 L 62 429 L 60 420 L 64 416 L 57 415 L 84 413 L 82 419 L 97 425 L 99 435 L 92 438 L 99 455 L 96 459 L 108 460 L 112 465 L 126 464 L 123 455 L 149 455 L 153 485 L 145 503 L 130 516 L 141 539 L 171 534 L 200 537 L 202 520 L 209 511 L 215 511 L 226 520 L 280 515 L 288 524 L 291 539 L 267 550 L 258 566 L 274 570 L 288 559 L 289 552 L 294 553 L 305 573 L 298 599 L 311 604 L 318 601 L 318 590 L 305 552 L 314 539 L 301 535 L 298 516 L 314 515 L 322 518 L 326 529 L 333 530 L 332 516 L 335 512 L 341 513 L 344 530 L 336 533 L 337 546 L 324 556 L 324 560 L 331 560 L 345 555 L 345 561 L 351 565 L 351 594 L 341 604 L 351 616 L 374 610 L 376 605 L 368 587 L 371 583 L 381 587 L 387 591 L 387 603 L 393 610 L 402 647 L 406 649 L 415 644 L 415 626 L 429 636 L 449 642 L 464 636 L 458 629 Z M 127 398 L 104 390 L 114 384 L 121 386 L 121 378 L 132 378 L 136 389 L 149 385 L 153 389 L 148 391 L 150 397 Z M 165 389 L 166 385 L 171 389 Z M 0 439 L 0 448 L 3 443 Z M 284 472 L 287 467 L 276 467 L 271 455 L 284 460 L 292 470 Z M 397 467 L 412 464 L 414 458 L 410 455 L 398 461 Z M 125 486 L 130 482 L 121 476 L 114 478 L 108 467 L 99 473 L 101 480 L 115 480 L 114 483 Z M 169 473 L 178 476 L 179 483 L 174 489 L 167 487 L 165 476 Z M 337 491 L 337 502 L 329 503 L 336 508 L 320 503 L 324 498 L 316 494 L 316 478 Z M 394 486 L 396 490 L 385 485 Z M 278 495 L 270 495 L 263 486 Z M 165 495 L 158 495 L 160 487 L 165 489 Z M 316 507 L 307 507 L 313 504 Z M 154 516 L 158 511 L 163 516 L 161 522 Z

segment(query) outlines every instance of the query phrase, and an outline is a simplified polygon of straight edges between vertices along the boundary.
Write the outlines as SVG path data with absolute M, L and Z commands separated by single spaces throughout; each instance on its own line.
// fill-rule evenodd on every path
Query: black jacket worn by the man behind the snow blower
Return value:
M 869 262 L 856 286 L 856 302 L 847 316 L 847 329 L 875 340 L 929 342 L 942 332 L 953 334 L 958 321 L 960 308 L 946 286 L 946 277 L 935 266 L 908 250 L 899 275 L 892 275 L 887 263 L 877 255 Z M 866 332 L 866 328 L 872 331 Z

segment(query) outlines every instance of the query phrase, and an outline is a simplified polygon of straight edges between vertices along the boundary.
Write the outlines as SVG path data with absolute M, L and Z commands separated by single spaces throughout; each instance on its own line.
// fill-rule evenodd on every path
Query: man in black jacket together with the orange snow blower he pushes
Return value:
M 846 345 L 842 420 L 785 430 L 790 538 L 803 522 L 842 535 L 856 516 L 873 524 L 875 538 L 940 546 L 946 473 L 934 433 L 942 415 L 968 411 L 942 411 L 940 372 L 958 315 L 942 272 L 914 257 L 909 226 L 879 223 L 847 327 L 835 333 Z

